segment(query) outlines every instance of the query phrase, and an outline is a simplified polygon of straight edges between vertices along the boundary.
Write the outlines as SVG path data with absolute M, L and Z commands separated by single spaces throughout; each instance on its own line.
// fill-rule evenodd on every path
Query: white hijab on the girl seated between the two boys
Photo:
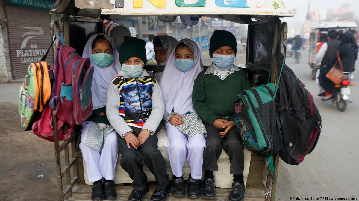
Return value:
M 195 64 L 186 72 L 178 69 L 174 64 L 174 53 L 178 44 L 187 45 L 194 56 Z M 185 114 L 195 112 L 192 104 L 192 89 L 197 75 L 203 70 L 201 52 L 198 45 L 190 39 L 178 41 L 164 68 L 160 86 L 163 94 L 165 113 L 174 112 Z

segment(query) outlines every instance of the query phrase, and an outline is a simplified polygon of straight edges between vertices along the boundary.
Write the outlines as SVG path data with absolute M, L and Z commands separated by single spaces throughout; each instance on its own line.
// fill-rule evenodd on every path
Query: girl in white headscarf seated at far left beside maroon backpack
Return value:
M 82 57 L 90 58 L 94 73 L 91 86 L 93 112 L 92 116 L 81 124 L 80 149 L 88 180 L 93 182 L 92 200 L 101 200 L 103 197 L 111 200 L 116 197 L 113 178 L 118 146 L 116 131 L 106 117 L 106 100 L 109 83 L 117 75 L 117 71 L 121 70 L 121 64 L 115 43 L 105 34 L 91 36 Z

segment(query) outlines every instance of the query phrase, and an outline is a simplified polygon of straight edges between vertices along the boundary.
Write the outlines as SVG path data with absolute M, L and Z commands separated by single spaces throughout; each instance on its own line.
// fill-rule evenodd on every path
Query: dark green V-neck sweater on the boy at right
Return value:
M 243 70 L 234 71 L 224 80 L 212 73 L 204 74 L 206 69 L 198 74 L 193 86 L 192 102 L 198 116 L 212 125 L 218 116 L 231 116 L 234 119 L 234 100 L 243 90 L 251 85 Z

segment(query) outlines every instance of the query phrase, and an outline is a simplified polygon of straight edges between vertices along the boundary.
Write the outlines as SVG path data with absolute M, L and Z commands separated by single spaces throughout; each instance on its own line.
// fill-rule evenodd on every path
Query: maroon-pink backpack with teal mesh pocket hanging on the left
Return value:
M 70 127 L 79 125 L 92 114 L 91 83 L 93 67 L 89 58 L 82 58 L 72 47 L 62 45 L 59 49 L 56 96 L 52 108 L 59 122 Z M 66 138 L 65 138 L 66 139 Z

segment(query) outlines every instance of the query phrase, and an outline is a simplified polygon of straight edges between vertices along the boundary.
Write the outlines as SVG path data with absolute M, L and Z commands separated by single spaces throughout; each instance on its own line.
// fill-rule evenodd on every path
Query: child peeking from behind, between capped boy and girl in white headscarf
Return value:
M 155 50 L 155 59 L 158 65 L 166 65 L 169 56 L 177 44 L 177 39 L 172 36 L 155 36 L 153 39 L 153 49 Z M 161 81 L 163 72 L 155 72 L 155 80 Z

